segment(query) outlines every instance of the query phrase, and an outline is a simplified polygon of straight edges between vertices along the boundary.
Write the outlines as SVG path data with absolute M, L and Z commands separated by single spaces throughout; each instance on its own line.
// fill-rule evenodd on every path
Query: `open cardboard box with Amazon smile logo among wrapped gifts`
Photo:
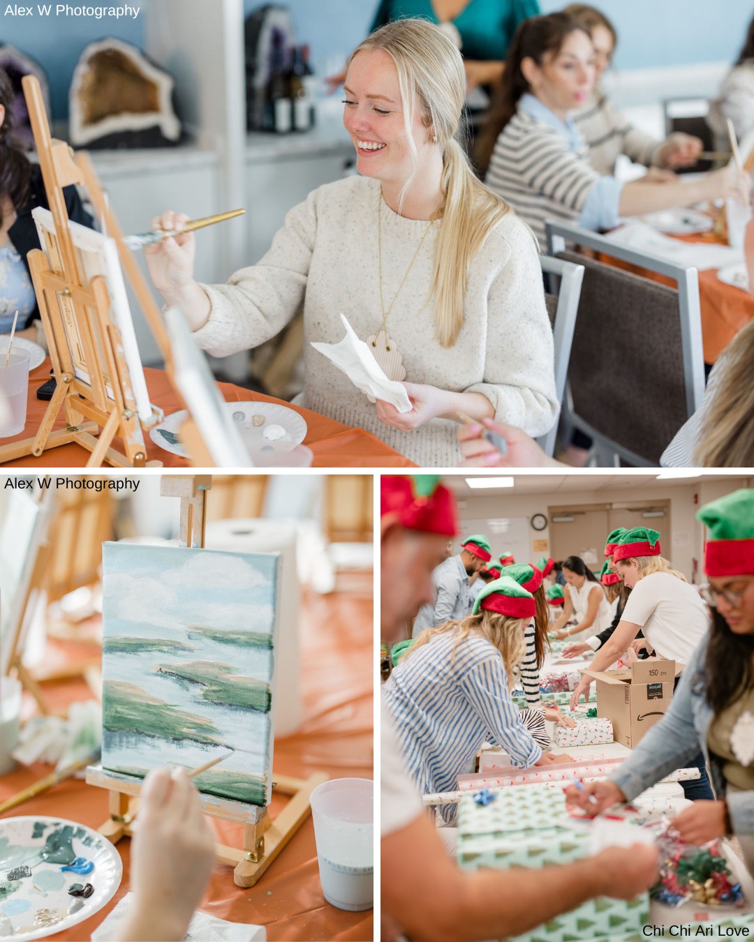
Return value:
M 582 671 L 597 681 L 597 714 L 613 723 L 615 742 L 629 749 L 661 720 L 683 669 L 674 660 L 647 658 L 619 671 Z

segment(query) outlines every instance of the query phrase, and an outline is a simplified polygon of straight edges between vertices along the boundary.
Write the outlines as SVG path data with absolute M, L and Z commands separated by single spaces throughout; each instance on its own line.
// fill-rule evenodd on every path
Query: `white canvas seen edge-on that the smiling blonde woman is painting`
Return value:
M 48 209 L 38 206 L 32 210 L 32 217 L 37 225 L 40 243 L 52 268 L 60 268 L 57 258 L 57 234 L 55 220 Z M 85 284 L 89 284 L 96 275 L 102 275 L 107 284 L 107 293 L 110 298 L 110 316 L 121 334 L 123 343 L 123 357 L 128 366 L 128 373 L 137 406 L 139 419 L 144 422 L 154 421 L 152 405 L 149 401 L 147 383 L 144 379 L 144 370 L 139 355 L 139 345 L 131 317 L 131 308 L 123 282 L 123 271 L 118 256 L 118 247 L 115 240 L 108 235 L 95 232 L 77 222 L 69 222 L 69 232 L 74 244 L 76 259 L 80 274 Z M 58 297 L 60 314 L 66 328 L 66 336 L 71 356 L 74 361 L 76 378 L 90 384 L 90 375 L 87 371 L 86 357 L 83 345 L 73 316 L 73 310 L 67 306 L 65 300 Z M 107 382 L 107 396 L 114 398 L 109 378 Z

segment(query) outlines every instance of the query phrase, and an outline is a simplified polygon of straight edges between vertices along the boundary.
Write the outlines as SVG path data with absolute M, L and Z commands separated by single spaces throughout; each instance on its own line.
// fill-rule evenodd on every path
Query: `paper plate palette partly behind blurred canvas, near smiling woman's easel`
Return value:
M 271 462 L 275 452 L 291 451 L 306 437 L 302 416 L 277 402 L 226 402 L 224 406 L 253 459 L 258 454 L 265 462 L 267 459 Z M 150 438 L 173 455 L 188 458 L 188 451 L 178 437 L 178 430 L 187 418 L 185 409 L 168 415 L 150 430 Z

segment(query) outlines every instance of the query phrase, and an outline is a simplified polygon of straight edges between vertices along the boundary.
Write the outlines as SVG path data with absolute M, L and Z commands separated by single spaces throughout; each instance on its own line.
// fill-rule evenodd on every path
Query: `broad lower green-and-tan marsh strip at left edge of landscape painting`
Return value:
M 141 733 L 163 739 L 222 744 L 217 727 L 204 717 L 171 707 L 136 684 L 108 680 L 103 691 L 103 725 L 112 733 Z

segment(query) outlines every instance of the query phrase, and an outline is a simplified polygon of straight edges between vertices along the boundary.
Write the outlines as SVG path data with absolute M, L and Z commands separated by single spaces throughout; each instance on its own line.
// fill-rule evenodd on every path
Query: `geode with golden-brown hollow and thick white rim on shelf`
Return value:
M 122 40 L 91 42 L 70 95 L 74 147 L 166 147 L 181 139 L 172 75 Z

